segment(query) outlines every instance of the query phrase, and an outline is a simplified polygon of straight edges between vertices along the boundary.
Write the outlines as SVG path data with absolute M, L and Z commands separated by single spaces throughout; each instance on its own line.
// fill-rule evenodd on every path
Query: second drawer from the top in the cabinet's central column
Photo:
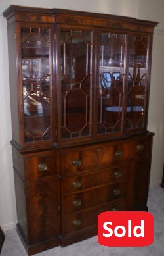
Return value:
M 92 188 L 109 182 L 117 182 L 127 178 L 129 165 L 118 166 L 117 168 L 106 168 L 87 172 L 85 174 L 73 175 L 62 179 L 62 192 L 71 193 L 86 188 Z

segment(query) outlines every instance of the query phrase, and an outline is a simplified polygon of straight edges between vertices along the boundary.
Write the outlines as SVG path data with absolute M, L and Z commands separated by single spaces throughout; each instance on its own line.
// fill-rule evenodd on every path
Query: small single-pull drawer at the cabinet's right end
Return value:
M 152 136 L 140 136 L 132 140 L 132 157 L 142 157 L 151 155 L 152 152 Z

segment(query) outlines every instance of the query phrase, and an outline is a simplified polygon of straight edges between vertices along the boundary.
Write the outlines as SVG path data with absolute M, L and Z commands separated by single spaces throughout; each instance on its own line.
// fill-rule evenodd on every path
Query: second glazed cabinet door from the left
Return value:
M 92 30 L 60 28 L 58 141 L 92 136 Z

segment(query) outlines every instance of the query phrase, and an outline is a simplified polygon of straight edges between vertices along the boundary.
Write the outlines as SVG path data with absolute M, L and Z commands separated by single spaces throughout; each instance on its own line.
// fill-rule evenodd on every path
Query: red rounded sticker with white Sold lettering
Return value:
M 142 247 L 154 242 L 154 217 L 145 211 L 106 211 L 98 215 L 98 243 Z

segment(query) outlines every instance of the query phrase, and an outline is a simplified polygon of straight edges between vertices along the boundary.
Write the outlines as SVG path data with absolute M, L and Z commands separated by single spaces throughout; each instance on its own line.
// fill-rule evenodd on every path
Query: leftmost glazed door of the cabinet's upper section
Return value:
M 24 24 L 19 33 L 21 141 L 31 146 L 52 138 L 52 32 L 50 25 Z

